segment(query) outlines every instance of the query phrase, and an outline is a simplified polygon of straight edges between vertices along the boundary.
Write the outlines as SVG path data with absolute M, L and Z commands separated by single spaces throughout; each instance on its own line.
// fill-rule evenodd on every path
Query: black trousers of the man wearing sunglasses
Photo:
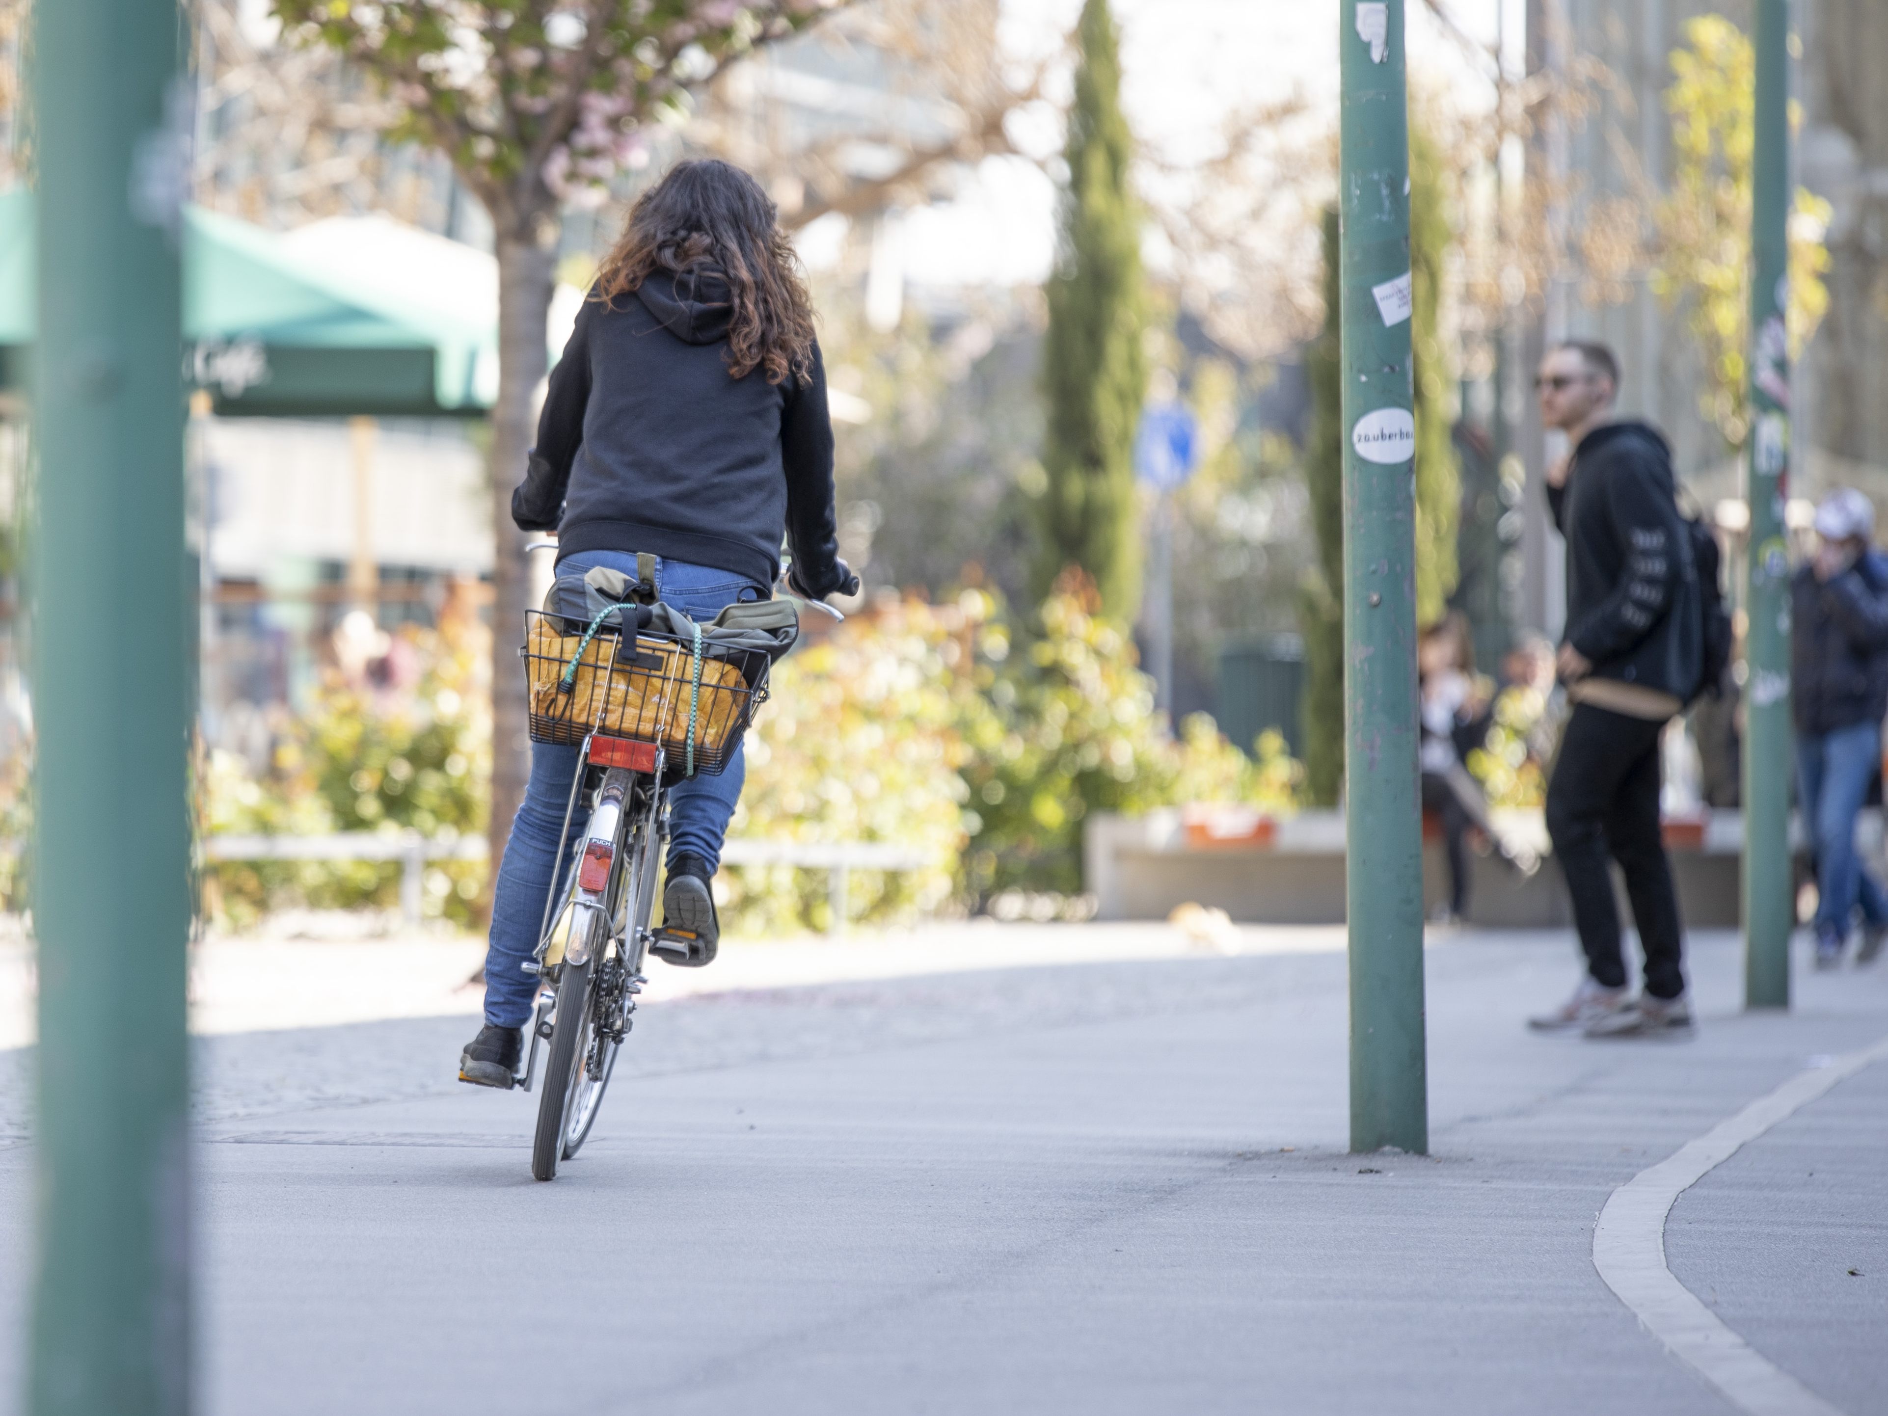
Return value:
M 1626 984 L 1610 857 L 1626 874 L 1626 899 L 1646 953 L 1646 993 L 1675 999 L 1684 993 L 1684 931 L 1658 821 L 1663 727 L 1575 704 L 1546 785 L 1546 833 L 1567 876 L 1573 925 L 1593 980 L 1605 987 Z

